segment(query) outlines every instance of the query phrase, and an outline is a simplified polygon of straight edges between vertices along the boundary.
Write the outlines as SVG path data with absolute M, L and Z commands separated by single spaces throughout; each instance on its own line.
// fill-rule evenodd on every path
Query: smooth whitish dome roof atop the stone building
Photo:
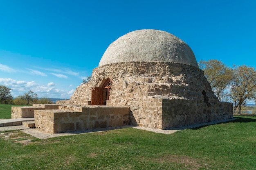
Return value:
M 99 66 L 132 61 L 198 63 L 191 48 L 178 37 L 159 30 L 137 30 L 119 37 L 108 46 Z

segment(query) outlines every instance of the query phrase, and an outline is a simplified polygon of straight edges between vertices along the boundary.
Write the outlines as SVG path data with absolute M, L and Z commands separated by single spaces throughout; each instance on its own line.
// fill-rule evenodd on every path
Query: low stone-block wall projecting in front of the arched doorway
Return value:
M 79 111 L 74 111 L 74 108 L 72 111 L 72 106 L 69 107 L 65 110 L 35 110 L 36 128 L 61 133 L 130 124 L 128 107 L 77 107 Z

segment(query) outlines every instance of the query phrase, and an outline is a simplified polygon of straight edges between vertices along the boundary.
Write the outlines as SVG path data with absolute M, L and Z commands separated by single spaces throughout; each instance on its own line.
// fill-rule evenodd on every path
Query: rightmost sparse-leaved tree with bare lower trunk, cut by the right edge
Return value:
M 229 96 L 235 104 L 234 113 L 238 108 L 238 114 L 241 113 L 242 105 L 245 105 L 248 100 L 256 98 L 255 68 L 246 65 L 234 68 Z

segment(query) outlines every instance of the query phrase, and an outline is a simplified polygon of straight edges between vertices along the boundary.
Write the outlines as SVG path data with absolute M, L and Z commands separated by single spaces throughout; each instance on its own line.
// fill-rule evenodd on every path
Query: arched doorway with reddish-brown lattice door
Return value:
M 106 105 L 113 82 L 108 78 L 102 87 L 92 87 L 92 105 Z

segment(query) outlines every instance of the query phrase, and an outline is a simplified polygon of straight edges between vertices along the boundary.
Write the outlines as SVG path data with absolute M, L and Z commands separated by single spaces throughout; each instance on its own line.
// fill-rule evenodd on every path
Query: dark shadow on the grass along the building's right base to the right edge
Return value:
M 245 118 L 247 117 L 247 118 Z M 248 117 L 252 117 L 252 118 L 248 118 Z M 235 120 L 230 120 L 227 122 L 220 122 L 220 123 L 216 123 L 216 124 L 226 124 L 226 123 L 248 123 L 248 122 L 256 122 L 256 115 L 246 115 L 246 116 L 234 116 Z M 191 128 L 192 130 L 197 130 L 200 129 L 202 127 L 207 127 L 207 126 L 211 126 L 214 124 L 209 124 L 209 125 L 203 125 L 203 126 L 199 126 L 199 127 L 195 127 L 195 128 Z

